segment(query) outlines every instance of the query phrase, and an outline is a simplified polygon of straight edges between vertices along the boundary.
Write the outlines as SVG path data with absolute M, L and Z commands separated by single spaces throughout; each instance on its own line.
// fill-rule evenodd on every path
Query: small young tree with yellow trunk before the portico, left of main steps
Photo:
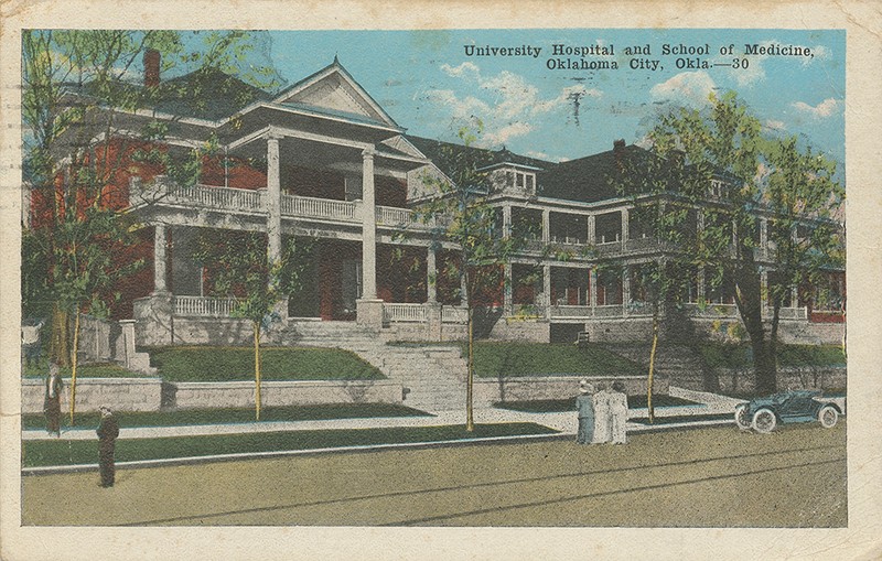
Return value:
M 288 239 L 278 260 L 267 253 L 261 233 L 207 230 L 196 239 L 194 259 L 208 271 L 208 292 L 234 298 L 233 317 L 250 321 L 255 350 L 255 419 L 260 420 L 260 333 L 278 319 L 277 306 L 302 289 L 310 242 Z

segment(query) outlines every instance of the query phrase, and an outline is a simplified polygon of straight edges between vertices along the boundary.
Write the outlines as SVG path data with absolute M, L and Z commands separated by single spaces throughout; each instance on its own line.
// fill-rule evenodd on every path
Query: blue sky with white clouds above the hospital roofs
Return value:
M 663 53 L 665 44 L 669 53 Z M 795 45 L 811 55 L 746 54 L 746 44 Z M 469 45 L 521 47 L 527 54 L 469 56 Z M 584 60 L 615 61 L 619 68 L 549 68 L 558 58 L 582 58 L 553 56 L 553 45 L 613 48 L 613 55 Z M 625 47 L 647 45 L 648 55 L 625 54 Z M 701 54 L 706 45 L 708 53 Z M 692 47 L 698 53 L 688 55 Z M 289 84 L 336 55 L 408 133 L 455 140 L 459 128 L 477 117 L 484 123 L 482 145 L 550 161 L 610 150 L 615 139 L 641 143 L 659 114 L 707 107 L 711 91 L 734 90 L 768 132 L 796 134 L 843 170 L 846 34 L 840 30 L 273 31 L 263 50 Z

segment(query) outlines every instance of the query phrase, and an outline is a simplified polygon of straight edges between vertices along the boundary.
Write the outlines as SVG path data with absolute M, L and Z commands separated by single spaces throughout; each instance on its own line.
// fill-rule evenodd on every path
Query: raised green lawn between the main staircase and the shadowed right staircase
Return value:
M 465 355 L 463 345 L 463 356 Z M 599 346 L 577 348 L 566 343 L 496 343 L 475 345 L 475 375 L 504 376 L 633 376 L 639 365 Z

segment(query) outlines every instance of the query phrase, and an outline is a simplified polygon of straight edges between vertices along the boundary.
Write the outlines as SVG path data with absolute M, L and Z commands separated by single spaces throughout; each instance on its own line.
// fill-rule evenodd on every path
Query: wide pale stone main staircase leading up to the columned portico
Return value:
M 352 350 L 401 384 L 407 407 L 423 411 L 462 409 L 466 362 L 456 346 L 386 345 L 378 330 L 352 322 L 291 322 L 275 343 Z

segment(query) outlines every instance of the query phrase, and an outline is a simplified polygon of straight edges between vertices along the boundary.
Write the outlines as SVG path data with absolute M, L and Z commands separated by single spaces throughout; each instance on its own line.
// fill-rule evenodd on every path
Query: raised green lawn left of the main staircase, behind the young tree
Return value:
M 165 381 L 254 379 L 250 347 L 184 346 L 152 348 L 150 363 Z M 357 355 L 338 348 L 267 347 L 260 350 L 265 380 L 365 380 L 385 378 Z

